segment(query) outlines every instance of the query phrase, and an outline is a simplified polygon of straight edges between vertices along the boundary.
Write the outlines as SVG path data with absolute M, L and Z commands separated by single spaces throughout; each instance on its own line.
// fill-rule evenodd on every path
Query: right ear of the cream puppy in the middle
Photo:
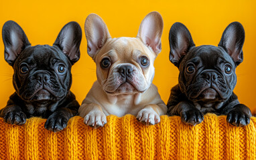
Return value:
M 164 21 L 160 13 L 153 11 L 145 16 L 139 25 L 137 37 L 158 55 L 162 50 L 161 37 Z

